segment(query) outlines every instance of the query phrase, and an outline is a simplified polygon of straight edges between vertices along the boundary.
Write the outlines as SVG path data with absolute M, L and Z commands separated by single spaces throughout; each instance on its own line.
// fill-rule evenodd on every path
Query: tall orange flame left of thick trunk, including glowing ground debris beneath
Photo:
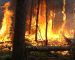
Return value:
M 2 49 L 9 50 L 8 47 L 12 46 L 11 41 L 13 38 L 13 31 L 12 31 L 13 11 L 9 10 L 9 7 L 10 7 L 10 2 L 6 2 L 2 6 L 3 17 L 0 28 L 0 48 L 1 48 L 0 50 Z

